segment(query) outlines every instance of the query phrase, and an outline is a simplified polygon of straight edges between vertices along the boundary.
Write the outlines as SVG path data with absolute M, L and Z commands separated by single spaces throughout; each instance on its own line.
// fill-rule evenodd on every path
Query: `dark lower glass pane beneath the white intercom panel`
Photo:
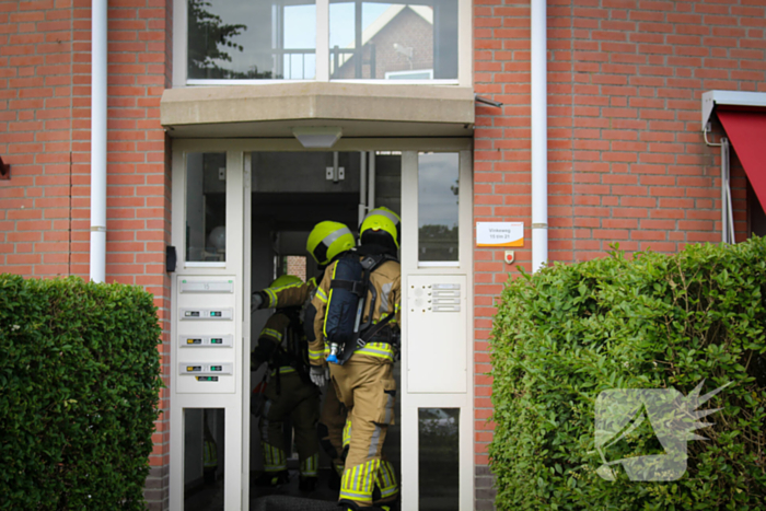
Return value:
M 420 510 L 457 510 L 460 408 L 418 408 Z

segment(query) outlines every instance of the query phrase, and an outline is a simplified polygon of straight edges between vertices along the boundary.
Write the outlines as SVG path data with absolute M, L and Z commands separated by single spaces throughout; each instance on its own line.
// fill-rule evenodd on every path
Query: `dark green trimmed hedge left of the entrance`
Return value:
M 160 334 L 140 288 L 0 275 L 0 509 L 146 509 Z

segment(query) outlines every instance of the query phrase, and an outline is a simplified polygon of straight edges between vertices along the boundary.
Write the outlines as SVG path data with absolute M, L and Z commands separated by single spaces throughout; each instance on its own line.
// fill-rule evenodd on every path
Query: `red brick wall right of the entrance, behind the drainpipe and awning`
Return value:
M 524 221 L 515 266 L 531 269 L 530 2 L 475 0 L 476 221 Z M 676 252 L 720 240 L 718 148 L 700 133 L 701 94 L 766 92 L 763 0 L 548 1 L 549 257 Z M 718 137 L 716 137 L 718 140 Z M 736 162 L 732 162 L 736 166 Z M 736 239 L 746 179 L 733 171 Z M 487 339 L 509 268 L 475 251 L 476 509 L 491 509 Z

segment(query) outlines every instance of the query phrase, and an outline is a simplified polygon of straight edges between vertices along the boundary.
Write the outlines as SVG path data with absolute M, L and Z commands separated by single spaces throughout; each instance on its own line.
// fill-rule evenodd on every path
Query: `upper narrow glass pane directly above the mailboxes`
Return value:
M 227 154 L 186 155 L 186 260 L 227 260 Z

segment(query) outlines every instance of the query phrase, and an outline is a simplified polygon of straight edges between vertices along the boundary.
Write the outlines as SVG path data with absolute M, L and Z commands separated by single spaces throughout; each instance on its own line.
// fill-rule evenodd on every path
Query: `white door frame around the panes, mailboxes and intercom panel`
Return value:
M 242 351 L 239 352 L 241 363 L 236 368 L 237 378 L 236 394 L 239 397 L 237 423 L 230 425 L 227 419 L 227 437 L 239 438 L 239 444 L 233 441 L 225 442 L 227 460 L 235 458 L 240 465 L 236 475 L 227 473 L 224 485 L 224 493 L 227 500 L 224 504 L 227 509 L 247 509 L 249 502 L 249 414 L 244 414 L 248 406 L 249 392 L 243 392 L 244 388 L 249 390 L 251 373 L 249 358 L 244 357 L 251 350 L 249 336 L 249 298 L 251 298 L 251 269 L 248 262 L 251 259 L 251 152 L 268 151 L 268 152 L 359 152 L 359 151 L 395 151 L 402 153 L 402 276 L 403 287 L 406 286 L 406 276 L 422 276 L 422 275 L 464 275 L 466 277 L 466 310 L 467 310 L 467 333 L 466 333 L 466 388 L 464 394 L 409 394 L 406 390 L 406 350 L 403 350 L 402 358 L 402 386 L 399 392 L 402 399 L 402 502 L 403 509 L 417 509 L 418 506 L 418 407 L 460 407 L 460 509 L 473 509 L 474 503 L 474 328 L 473 328 L 473 140 L 469 138 L 355 138 L 340 139 L 336 144 L 327 150 L 305 149 L 295 139 L 174 139 L 173 140 L 173 213 L 172 213 L 172 240 L 178 251 L 178 268 L 183 275 L 201 275 L 206 274 L 206 268 L 184 267 L 184 233 L 185 225 L 185 171 L 186 171 L 186 153 L 198 152 L 225 152 L 227 153 L 227 172 L 228 178 L 234 177 L 234 173 L 239 173 L 239 179 L 228 181 L 227 188 L 227 234 L 229 234 L 230 220 L 234 216 L 239 216 L 234 229 L 235 233 L 241 233 L 241 243 L 236 243 L 240 252 L 241 260 L 239 268 L 231 267 L 228 257 L 227 267 L 221 270 L 236 271 L 242 275 L 243 284 L 237 288 L 237 294 L 241 292 L 242 306 L 239 307 L 241 313 L 241 322 L 239 332 L 241 332 Z M 417 221 L 408 221 L 408 219 L 417 219 L 417 161 L 419 152 L 460 152 L 460 265 L 451 267 L 418 267 L 417 264 L 417 246 L 418 246 L 418 229 Z M 234 188 L 234 182 L 239 184 L 239 188 Z M 239 191 L 239 194 L 237 194 Z M 233 193 L 233 194 L 230 194 Z M 236 195 L 235 200 L 231 200 Z M 232 208 L 240 208 L 241 214 Z M 241 229 L 241 231 L 240 231 Z M 232 254 L 229 248 L 234 248 L 229 244 L 232 236 L 227 236 L 227 254 Z M 218 269 L 218 268 L 217 268 Z M 218 271 L 217 271 L 218 272 Z M 223 274 L 222 274 L 223 275 Z M 172 300 L 176 297 L 175 281 L 173 281 Z M 402 297 L 402 330 L 403 345 L 407 342 L 407 294 Z M 175 332 L 175 303 L 171 303 L 171 368 L 176 362 L 172 360 L 175 356 L 173 346 L 177 334 Z M 236 339 L 235 339 L 236 340 Z M 178 410 L 182 409 L 182 403 L 173 403 L 173 399 L 178 399 L 178 395 L 173 392 L 173 374 L 171 370 L 171 509 L 183 509 L 183 480 L 178 472 L 183 473 L 183 421 L 177 417 Z M 194 395 L 197 396 L 197 395 Z M 184 398 L 182 398 L 183 400 Z M 202 395 L 195 407 L 210 407 L 216 404 L 216 396 Z M 234 419 L 234 417 L 232 417 Z M 231 457 L 230 454 L 231 453 Z M 410 454 L 415 453 L 415 454 Z M 405 456 L 409 458 L 409 463 L 405 462 Z M 232 462 L 233 463 L 233 462 Z M 227 463 L 228 466 L 229 463 Z M 175 469 L 174 469 L 175 468 Z M 181 483 L 181 488 L 178 484 Z M 231 488 L 232 485 L 240 486 L 240 491 Z M 235 496 L 235 492 L 239 493 Z M 235 506 L 231 506 L 236 502 Z

